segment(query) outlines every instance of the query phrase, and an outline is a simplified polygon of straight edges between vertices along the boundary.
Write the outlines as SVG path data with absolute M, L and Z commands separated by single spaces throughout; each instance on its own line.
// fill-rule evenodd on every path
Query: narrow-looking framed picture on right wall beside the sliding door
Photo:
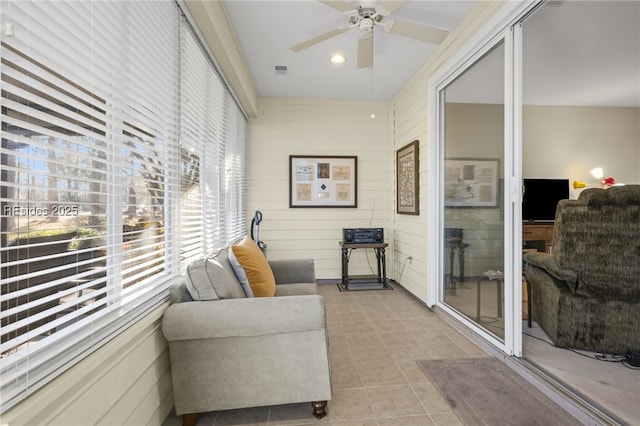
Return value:
M 419 215 L 418 146 L 415 140 L 396 151 L 396 197 L 399 214 Z

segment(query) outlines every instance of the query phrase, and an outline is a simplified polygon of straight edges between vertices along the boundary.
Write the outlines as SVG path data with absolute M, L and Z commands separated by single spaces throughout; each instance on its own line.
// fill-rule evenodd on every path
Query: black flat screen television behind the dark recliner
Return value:
M 522 220 L 553 222 L 558 201 L 569 198 L 569 179 L 524 179 Z

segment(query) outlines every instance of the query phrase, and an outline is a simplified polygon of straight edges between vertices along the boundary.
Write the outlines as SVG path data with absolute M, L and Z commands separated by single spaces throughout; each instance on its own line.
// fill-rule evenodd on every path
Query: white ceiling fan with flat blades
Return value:
M 359 6 L 347 3 L 343 0 L 319 0 L 329 7 L 342 13 L 347 18 L 347 25 L 332 29 L 318 36 L 291 46 L 293 52 L 299 52 L 331 37 L 349 31 L 352 28 L 360 30 L 358 38 L 358 68 L 368 68 L 373 65 L 373 28 L 381 25 L 385 32 L 401 35 L 424 41 L 426 43 L 440 44 L 448 32 L 436 28 L 427 27 L 413 22 L 386 19 L 391 13 L 404 6 L 409 1 L 387 0 L 379 2 L 363 1 Z

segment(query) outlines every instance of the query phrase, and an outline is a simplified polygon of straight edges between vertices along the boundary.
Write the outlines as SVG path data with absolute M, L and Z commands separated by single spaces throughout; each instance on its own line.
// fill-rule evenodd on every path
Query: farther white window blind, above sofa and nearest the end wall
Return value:
M 223 80 L 187 25 L 182 34 L 181 146 L 182 181 L 193 179 L 186 167 L 200 166 L 202 192 L 184 193 L 183 219 L 200 212 L 203 220 L 182 221 L 183 260 L 211 254 L 244 235 L 246 120 Z M 196 182 L 191 182 L 195 187 Z M 199 245 L 199 246 L 198 246 Z

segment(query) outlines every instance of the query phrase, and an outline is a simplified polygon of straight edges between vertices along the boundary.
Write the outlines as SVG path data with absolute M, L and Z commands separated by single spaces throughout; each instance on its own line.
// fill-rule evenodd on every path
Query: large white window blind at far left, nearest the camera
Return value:
M 166 298 L 180 19 L 172 2 L 9 1 L 2 23 L 5 410 Z

